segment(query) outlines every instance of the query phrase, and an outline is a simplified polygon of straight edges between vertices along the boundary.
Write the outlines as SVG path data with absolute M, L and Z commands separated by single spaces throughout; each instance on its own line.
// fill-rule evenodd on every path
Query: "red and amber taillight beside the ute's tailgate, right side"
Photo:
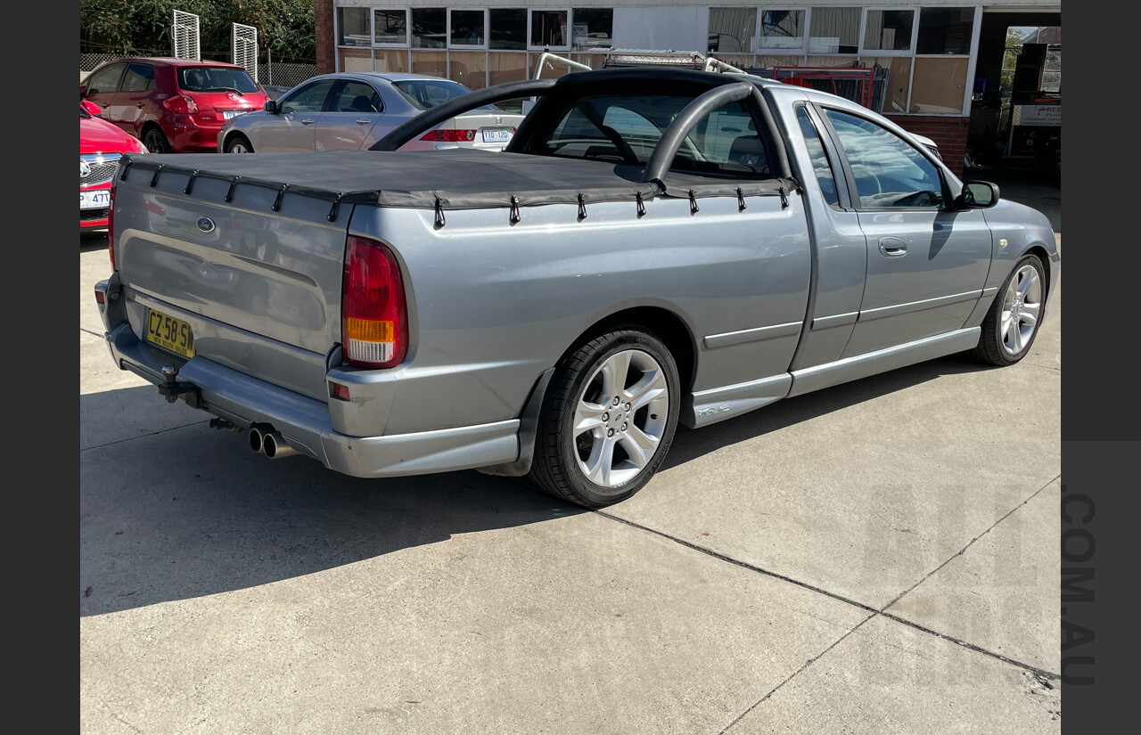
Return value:
M 341 346 L 347 364 L 367 368 L 399 365 L 408 351 L 400 267 L 393 251 L 364 237 L 346 246 Z

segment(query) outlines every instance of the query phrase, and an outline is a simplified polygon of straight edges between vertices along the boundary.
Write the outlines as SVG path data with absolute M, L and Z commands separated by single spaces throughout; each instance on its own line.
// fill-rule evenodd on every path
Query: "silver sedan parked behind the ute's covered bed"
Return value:
M 421 74 L 322 74 L 267 104 L 264 112 L 227 122 L 218 133 L 218 150 L 363 150 L 426 109 L 469 91 L 459 82 Z M 403 149 L 502 150 L 521 120 L 523 115 L 485 105 L 444 121 Z

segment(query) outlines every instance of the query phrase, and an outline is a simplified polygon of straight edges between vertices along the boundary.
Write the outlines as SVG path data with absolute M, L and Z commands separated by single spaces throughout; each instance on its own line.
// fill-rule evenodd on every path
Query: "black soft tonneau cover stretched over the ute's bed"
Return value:
M 670 172 L 665 190 L 640 181 L 642 166 L 601 161 L 560 158 L 487 150 L 373 152 L 327 150 L 317 153 L 237 154 L 133 154 L 124 155 L 120 180 L 146 179 L 151 186 L 164 175 L 185 178 L 185 193 L 193 195 L 197 178 L 230 182 L 227 199 L 238 186 L 259 186 L 278 191 L 273 209 L 288 205 L 291 196 L 309 196 L 333 204 L 434 209 L 437 220 L 445 210 L 517 207 L 541 204 L 642 201 L 652 196 L 784 197 L 799 188 L 780 178 L 723 179 Z

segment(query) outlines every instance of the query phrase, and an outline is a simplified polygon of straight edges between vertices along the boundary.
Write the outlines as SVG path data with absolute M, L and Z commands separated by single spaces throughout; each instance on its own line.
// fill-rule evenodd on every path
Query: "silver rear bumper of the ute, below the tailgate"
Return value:
M 333 430 L 327 401 L 259 381 L 205 358 L 191 360 L 139 340 L 126 319 L 118 276 L 99 281 L 105 338 L 115 365 L 168 393 L 248 430 L 269 424 L 299 454 L 354 477 L 472 469 L 519 457 L 519 419 L 381 436 L 350 436 Z M 168 378 L 164 366 L 173 369 Z

